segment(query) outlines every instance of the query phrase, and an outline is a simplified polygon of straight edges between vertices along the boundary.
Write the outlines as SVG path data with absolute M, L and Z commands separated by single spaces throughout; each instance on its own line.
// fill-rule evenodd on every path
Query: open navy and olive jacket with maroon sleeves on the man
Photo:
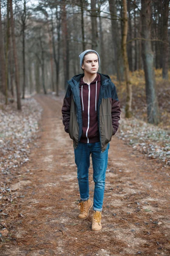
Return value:
M 101 87 L 97 104 L 97 123 L 101 151 L 103 152 L 119 128 L 121 110 L 116 87 L 110 77 L 101 73 L 98 74 L 101 79 Z M 68 89 L 62 106 L 62 122 L 65 125 L 65 131 L 69 133 L 73 140 L 74 148 L 77 148 L 82 137 L 82 107 L 79 81 L 83 76 L 84 74 L 79 74 L 67 81 Z

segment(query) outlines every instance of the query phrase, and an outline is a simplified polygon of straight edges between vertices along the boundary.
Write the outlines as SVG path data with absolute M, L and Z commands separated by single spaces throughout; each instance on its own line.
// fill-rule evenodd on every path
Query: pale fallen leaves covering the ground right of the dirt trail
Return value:
M 170 164 L 170 132 L 140 121 L 122 118 L 119 138 L 149 158 L 159 158 Z

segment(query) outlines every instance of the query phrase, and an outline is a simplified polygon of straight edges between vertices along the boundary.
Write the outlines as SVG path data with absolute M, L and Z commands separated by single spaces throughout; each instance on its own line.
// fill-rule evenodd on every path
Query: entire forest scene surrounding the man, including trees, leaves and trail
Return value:
M 169 255 L 169 9 L 169 0 L 0 0 L 0 255 Z M 122 111 L 97 237 L 90 218 L 77 220 L 61 113 L 85 49 L 99 52 Z M 89 178 L 92 195 L 92 168 Z

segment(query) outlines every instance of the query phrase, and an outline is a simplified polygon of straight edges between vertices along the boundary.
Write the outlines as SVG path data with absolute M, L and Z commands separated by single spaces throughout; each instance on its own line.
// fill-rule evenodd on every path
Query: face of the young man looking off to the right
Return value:
M 95 53 L 85 55 L 82 69 L 85 71 L 85 73 L 96 74 L 99 69 L 98 56 Z

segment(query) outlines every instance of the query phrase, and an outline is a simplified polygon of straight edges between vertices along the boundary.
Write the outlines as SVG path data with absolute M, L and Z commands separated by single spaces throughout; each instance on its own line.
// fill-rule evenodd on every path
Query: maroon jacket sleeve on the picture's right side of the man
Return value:
M 119 128 L 119 119 L 120 119 L 120 102 L 116 93 L 116 87 L 115 84 L 111 83 L 112 88 L 112 109 L 111 109 L 111 115 L 112 115 L 112 126 L 114 129 L 114 134 L 116 134 L 116 131 Z

